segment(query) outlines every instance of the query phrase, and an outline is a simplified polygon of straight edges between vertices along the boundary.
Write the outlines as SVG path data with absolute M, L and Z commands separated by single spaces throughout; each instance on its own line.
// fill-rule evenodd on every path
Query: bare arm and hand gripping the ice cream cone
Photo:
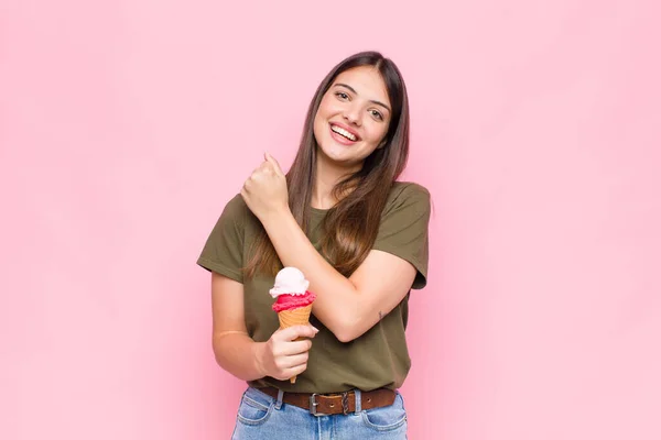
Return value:
M 242 381 L 264 376 L 286 380 L 307 367 L 310 340 L 316 331 L 308 326 L 278 330 L 267 342 L 254 342 L 246 329 L 243 285 L 226 276 L 212 274 L 212 345 L 223 370 Z

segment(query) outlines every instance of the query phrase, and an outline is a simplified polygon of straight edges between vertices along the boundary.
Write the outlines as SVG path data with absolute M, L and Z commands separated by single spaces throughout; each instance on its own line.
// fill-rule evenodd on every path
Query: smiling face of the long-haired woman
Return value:
M 367 156 L 383 146 L 390 118 L 390 99 L 378 69 L 361 66 L 343 72 L 314 117 L 317 160 L 359 169 Z

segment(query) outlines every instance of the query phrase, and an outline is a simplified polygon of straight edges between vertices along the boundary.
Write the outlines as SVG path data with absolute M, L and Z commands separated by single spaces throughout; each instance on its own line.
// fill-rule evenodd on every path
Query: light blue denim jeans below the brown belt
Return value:
M 356 397 L 359 397 L 357 392 Z M 407 411 L 401 394 L 394 404 L 348 415 L 313 416 L 249 387 L 241 398 L 232 440 L 404 440 Z

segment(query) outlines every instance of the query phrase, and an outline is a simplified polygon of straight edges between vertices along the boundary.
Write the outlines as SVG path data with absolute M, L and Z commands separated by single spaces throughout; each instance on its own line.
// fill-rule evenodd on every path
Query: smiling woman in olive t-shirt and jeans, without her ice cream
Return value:
M 426 189 L 395 182 L 408 153 L 401 74 L 359 53 L 319 85 L 289 173 L 264 154 L 225 207 L 197 263 L 213 273 L 216 360 L 249 384 L 232 438 L 405 438 L 397 389 L 430 217 Z M 279 330 L 269 289 L 282 266 L 316 294 L 311 326 Z

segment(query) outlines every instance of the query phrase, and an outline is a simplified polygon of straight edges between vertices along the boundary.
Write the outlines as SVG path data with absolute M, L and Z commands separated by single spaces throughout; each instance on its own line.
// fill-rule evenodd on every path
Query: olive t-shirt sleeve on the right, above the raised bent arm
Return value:
M 418 271 L 412 288 L 421 289 L 427 277 L 430 193 L 416 184 L 405 184 L 393 193 L 372 249 L 411 263 Z

